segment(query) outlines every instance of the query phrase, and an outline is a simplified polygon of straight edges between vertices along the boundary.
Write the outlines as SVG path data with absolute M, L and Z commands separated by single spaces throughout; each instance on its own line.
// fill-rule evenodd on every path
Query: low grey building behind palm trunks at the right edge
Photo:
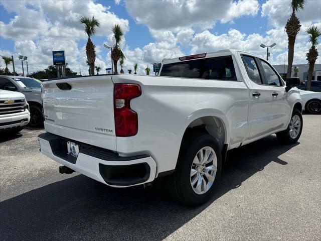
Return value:
M 275 70 L 283 77 L 286 76 L 287 71 L 287 64 L 279 64 L 279 65 L 273 65 Z M 292 74 L 291 77 L 293 77 L 294 72 L 293 68 L 298 67 L 299 72 L 297 73 L 297 77 L 300 80 L 307 80 L 307 70 L 309 68 L 308 64 L 293 64 L 292 65 Z M 321 64 L 315 64 L 314 65 L 314 71 L 313 71 L 313 77 L 312 80 L 319 80 L 321 81 Z

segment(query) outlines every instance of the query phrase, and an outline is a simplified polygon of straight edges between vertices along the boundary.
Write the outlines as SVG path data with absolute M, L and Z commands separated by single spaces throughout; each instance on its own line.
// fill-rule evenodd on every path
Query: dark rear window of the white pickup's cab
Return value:
M 232 56 L 221 56 L 164 64 L 161 76 L 237 80 Z

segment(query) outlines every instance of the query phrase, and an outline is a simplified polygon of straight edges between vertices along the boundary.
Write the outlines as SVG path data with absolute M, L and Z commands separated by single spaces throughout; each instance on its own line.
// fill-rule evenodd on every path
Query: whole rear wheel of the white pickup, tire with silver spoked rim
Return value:
M 203 158 L 203 164 L 200 161 L 202 154 L 203 157 L 208 157 L 206 161 Z M 208 160 L 212 161 L 206 163 Z M 192 133 L 183 140 L 176 170 L 168 179 L 169 191 L 174 198 L 186 205 L 204 203 L 214 194 L 221 169 L 222 156 L 217 141 L 208 134 Z M 200 180 L 201 187 L 198 185 Z

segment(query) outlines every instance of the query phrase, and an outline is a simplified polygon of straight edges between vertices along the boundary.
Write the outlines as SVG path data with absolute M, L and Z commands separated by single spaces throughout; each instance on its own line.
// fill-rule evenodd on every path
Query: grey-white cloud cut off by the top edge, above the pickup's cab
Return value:
M 196 1 L 125 1 L 128 13 L 140 24 L 153 30 L 171 30 L 180 28 L 212 28 L 217 20 L 230 21 L 242 15 L 255 15 L 258 10 L 256 0 Z

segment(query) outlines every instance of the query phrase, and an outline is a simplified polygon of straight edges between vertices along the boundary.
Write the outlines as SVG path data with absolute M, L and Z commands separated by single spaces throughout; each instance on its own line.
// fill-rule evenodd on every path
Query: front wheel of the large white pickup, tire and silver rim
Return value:
M 299 130 L 296 129 L 296 123 L 299 123 Z M 297 140 L 299 140 L 301 133 L 302 133 L 302 128 L 303 128 L 303 119 L 302 119 L 302 114 L 301 111 L 298 109 L 293 109 L 293 113 L 291 116 L 291 121 L 289 123 L 289 125 L 287 126 L 287 129 L 282 131 L 282 132 L 278 132 L 276 133 L 276 137 L 277 139 L 285 145 L 291 145 L 297 142 Z M 295 132 L 295 130 L 297 131 L 297 135 L 291 136 L 291 132 Z

